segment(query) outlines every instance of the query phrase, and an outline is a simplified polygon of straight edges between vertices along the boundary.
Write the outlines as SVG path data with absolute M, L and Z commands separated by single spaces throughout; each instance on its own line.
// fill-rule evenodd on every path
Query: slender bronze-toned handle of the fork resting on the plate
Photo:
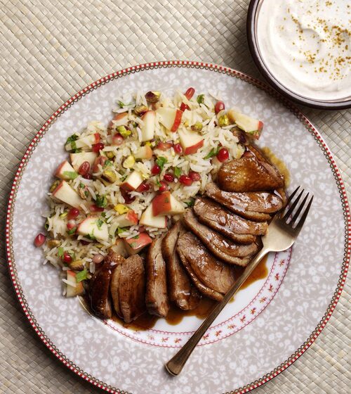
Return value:
M 183 348 L 181 348 L 176 355 L 174 355 L 171 360 L 169 360 L 166 364 L 166 370 L 173 376 L 177 376 L 180 374 L 180 371 L 182 371 L 185 363 L 187 362 L 187 359 L 190 357 L 192 354 L 192 351 L 196 347 L 197 343 L 199 343 L 200 339 L 204 336 L 206 333 L 207 329 L 213 321 L 216 319 L 218 314 L 223 310 L 225 305 L 227 305 L 228 301 L 232 296 L 237 293 L 239 288 L 241 288 L 242 284 L 244 284 L 244 281 L 249 277 L 251 272 L 253 272 L 253 269 L 255 269 L 262 260 L 262 258 L 269 252 L 270 250 L 263 248 L 261 249 L 258 254 L 255 256 L 255 258 L 249 263 L 249 265 L 246 267 L 244 272 L 240 275 L 240 277 L 237 279 L 237 281 L 233 284 L 233 286 L 227 291 L 225 294 L 224 298 L 220 303 L 218 303 L 215 307 L 213 307 L 213 310 L 211 310 L 211 313 L 208 314 L 208 317 L 202 322 L 201 326 L 195 331 L 190 339 L 185 343 Z

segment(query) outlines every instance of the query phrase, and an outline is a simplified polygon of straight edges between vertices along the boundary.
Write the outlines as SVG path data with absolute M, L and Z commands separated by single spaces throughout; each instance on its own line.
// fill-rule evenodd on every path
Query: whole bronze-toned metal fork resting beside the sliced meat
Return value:
M 199 343 L 209 326 L 211 326 L 216 317 L 218 317 L 218 314 L 220 314 L 232 296 L 237 293 L 237 291 L 239 291 L 239 288 L 241 288 L 251 272 L 253 272 L 253 269 L 257 267 L 260 260 L 262 260 L 262 258 L 269 252 L 281 252 L 282 250 L 290 248 L 296 241 L 296 238 L 298 237 L 298 234 L 305 223 L 313 201 L 312 196 L 307 204 L 307 207 L 305 210 L 303 210 L 310 193 L 307 193 L 305 198 L 303 198 L 302 203 L 298 205 L 305 191 L 302 189 L 298 197 L 293 201 L 293 198 L 296 196 L 296 193 L 298 193 L 299 189 L 300 186 L 298 186 L 298 188 L 295 189 L 293 193 L 291 193 L 291 196 L 286 203 L 286 206 L 289 207 L 286 213 L 284 214 L 284 208 L 283 210 L 279 211 L 272 219 L 272 222 L 270 222 L 267 234 L 262 236 L 263 248 L 258 252 L 249 265 L 247 265 L 241 276 L 237 279 L 229 291 L 227 291 L 223 300 L 213 307 L 211 313 L 208 314 L 208 317 L 206 317 L 201 326 L 199 326 L 199 329 L 197 329 L 197 331 L 194 332 L 187 343 L 185 343 L 183 348 L 181 348 L 176 353 L 176 355 L 174 355 L 171 360 L 165 364 L 166 370 L 169 372 L 169 374 L 173 376 L 180 374 L 180 371 L 182 371 L 197 343 Z M 291 201 L 293 201 L 293 203 L 291 203 Z M 290 203 L 291 205 L 289 206 Z M 299 217 L 300 219 L 298 220 Z

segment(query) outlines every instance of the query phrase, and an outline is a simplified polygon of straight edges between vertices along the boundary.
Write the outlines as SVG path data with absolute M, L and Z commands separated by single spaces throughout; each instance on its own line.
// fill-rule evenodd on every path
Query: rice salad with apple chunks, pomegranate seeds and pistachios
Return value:
M 193 88 L 128 94 L 113 112 L 107 125 L 90 122 L 67 139 L 69 158 L 48 191 L 46 235 L 34 240 L 44 263 L 60 269 L 68 297 L 84 293 L 109 248 L 143 253 L 263 127 Z

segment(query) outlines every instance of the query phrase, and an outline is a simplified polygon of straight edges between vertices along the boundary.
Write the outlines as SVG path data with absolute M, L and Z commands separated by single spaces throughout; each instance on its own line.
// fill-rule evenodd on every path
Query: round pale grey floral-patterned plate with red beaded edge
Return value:
M 289 190 L 314 193 L 312 210 L 292 250 L 270 255 L 268 274 L 227 305 L 178 377 L 164 362 L 200 321 L 186 317 L 149 331 L 124 329 L 89 316 L 77 299 L 62 298 L 58 274 L 42 265 L 34 236 L 41 231 L 51 174 L 66 157 L 67 136 L 90 120 L 109 120 L 126 91 L 194 87 L 220 91 L 227 106 L 265 123 L 269 146 L 291 174 Z M 246 393 L 289 367 L 331 316 L 350 260 L 350 210 L 340 172 L 322 137 L 285 98 L 248 75 L 219 65 L 167 61 L 138 65 L 94 82 L 62 105 L 29 145 L 15 175 L 6 222 L 11 278 L 41 341 L 69 369 L 110 393 Z M 347 243 L 349 242 L 349 243 Z

